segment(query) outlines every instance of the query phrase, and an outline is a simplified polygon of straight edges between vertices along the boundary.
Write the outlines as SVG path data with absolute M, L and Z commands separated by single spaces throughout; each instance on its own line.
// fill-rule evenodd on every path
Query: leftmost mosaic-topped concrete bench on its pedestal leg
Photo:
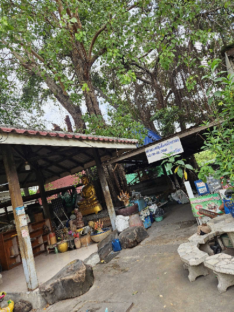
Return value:
M 208 275 L 207 269 L 203 265 L 203 261 L 209 256 L 208 253 L 198 249 L 199 243 L 189 242 L 183 243 L 178 247 L 180 259 L 184 262 L 184 269 L 187 269 L 188 279 L 190 282 L 196 280 L 197 276 Z

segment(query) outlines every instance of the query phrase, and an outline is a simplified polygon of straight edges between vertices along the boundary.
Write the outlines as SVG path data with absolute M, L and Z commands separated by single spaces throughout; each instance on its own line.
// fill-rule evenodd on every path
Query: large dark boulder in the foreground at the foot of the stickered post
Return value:
M 58 259 L 59 260 L 59 259 Z M 74 260 L 50 280 L 39 286 L 41 295 L 52 305 L 58 300 L 84 294 L 94 283 L 93 269 L 81 260 Z

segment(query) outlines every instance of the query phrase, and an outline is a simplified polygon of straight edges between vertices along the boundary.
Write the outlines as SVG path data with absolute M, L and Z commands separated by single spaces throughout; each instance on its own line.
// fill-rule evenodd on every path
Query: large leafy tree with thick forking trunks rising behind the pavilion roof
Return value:
M 119 46 L 128 45 L 134 21 L 141 24 L 146 8 L 145 1 L 3 0 L 2 61 L 42 78 L 81 130 L 82 99 L 90 115 L 102 116 L 93 64 L 102 55 L 110 61 Z

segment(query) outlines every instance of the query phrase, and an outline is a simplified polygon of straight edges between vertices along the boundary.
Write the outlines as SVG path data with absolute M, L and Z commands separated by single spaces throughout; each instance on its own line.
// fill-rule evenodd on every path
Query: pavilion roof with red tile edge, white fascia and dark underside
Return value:
M 0 125 L 1 144 L 12 144 L 20 186 L 38 185 L 35 168 L 45 183 L 95 165 L 92 149 L 98 148 L 102 162 L 136 149 L 137 140 L 71 132 L 20 129 Z M 31 169 L 25 170 L 25 162 Z M 0 184 L 7 183 L 0 148 Z M 1 191 L 7 189 L 7 185 Z

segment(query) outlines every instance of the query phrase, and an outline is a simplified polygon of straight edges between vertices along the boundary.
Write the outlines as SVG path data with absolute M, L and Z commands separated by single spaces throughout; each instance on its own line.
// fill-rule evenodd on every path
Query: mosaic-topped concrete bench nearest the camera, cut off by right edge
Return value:
M 205 259 L 204 266 L 212 269 L 218 278 L 218 291 L 222 294 L 234 285 L 234 257 L 219 253 Z

